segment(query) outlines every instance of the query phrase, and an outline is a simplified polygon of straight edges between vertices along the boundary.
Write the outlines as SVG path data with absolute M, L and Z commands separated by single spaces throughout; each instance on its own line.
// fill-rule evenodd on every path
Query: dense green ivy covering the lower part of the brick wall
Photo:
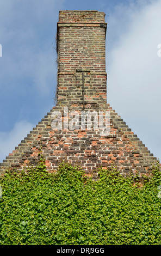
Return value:
M 142 186 L 115 167 L 97 181 L 61 163 L 8 170 L 1 179 L 1 245 L 160 245 L 159 167 Z M 159 188 L 158 188 L 159 187 Z

